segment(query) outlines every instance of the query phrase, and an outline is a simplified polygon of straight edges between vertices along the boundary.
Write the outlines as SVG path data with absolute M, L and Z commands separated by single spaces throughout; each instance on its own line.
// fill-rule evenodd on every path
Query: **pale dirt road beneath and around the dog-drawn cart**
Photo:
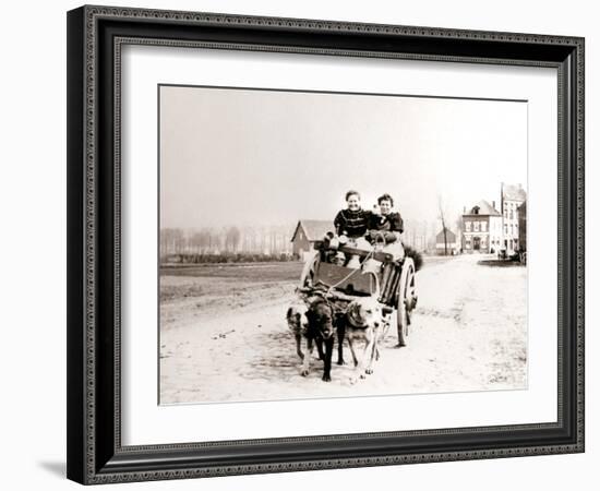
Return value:
M 482 259 L 425 263 L 417 274 L 419 304 L 409 346 L 395 349 L 391 330 L 374 373 L 357 384 L 350 383 L 350 364 L 334 364 L 332 382 L 322 382 L 319 360 L 308 378 L 300 376 L 285 320 L 295 301 L 295 283 L 287 277 L 259 283 L 167 273 L 161 276 L 160 402 L 525 388 L 526 268 L 478 264 Z M 347 347 L 346 354 L 350 360 Z

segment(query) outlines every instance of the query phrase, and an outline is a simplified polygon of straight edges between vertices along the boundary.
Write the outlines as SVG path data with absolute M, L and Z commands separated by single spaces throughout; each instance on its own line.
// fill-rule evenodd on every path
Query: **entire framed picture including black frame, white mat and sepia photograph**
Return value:
M 68 12 L 67 477 L 580 458 L 585 38 L 227 12 Z

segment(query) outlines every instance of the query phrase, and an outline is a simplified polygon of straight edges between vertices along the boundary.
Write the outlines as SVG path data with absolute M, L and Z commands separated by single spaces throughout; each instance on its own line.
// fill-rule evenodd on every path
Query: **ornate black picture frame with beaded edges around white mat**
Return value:
M 119 111 L 124 44 L 556 68 L 557 421 L 123 446 Z M 584 452 L 583 38 L 107 7 L 68 13 L 70 479 L 92 484 L 576 452 Z

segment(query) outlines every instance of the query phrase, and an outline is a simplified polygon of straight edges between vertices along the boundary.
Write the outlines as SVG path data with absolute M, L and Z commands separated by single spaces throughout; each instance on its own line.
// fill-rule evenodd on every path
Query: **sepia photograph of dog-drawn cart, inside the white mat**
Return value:
M 528 104 L 158 86 L 160 405 L 528 387 Z

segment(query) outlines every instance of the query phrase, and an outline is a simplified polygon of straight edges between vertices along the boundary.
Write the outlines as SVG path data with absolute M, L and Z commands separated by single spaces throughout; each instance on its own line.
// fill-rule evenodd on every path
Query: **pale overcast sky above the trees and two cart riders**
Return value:
M 527 104 L 160 88 L 161 227 L 333 219 L 357 189 L 407 219 L 527 188 Z

